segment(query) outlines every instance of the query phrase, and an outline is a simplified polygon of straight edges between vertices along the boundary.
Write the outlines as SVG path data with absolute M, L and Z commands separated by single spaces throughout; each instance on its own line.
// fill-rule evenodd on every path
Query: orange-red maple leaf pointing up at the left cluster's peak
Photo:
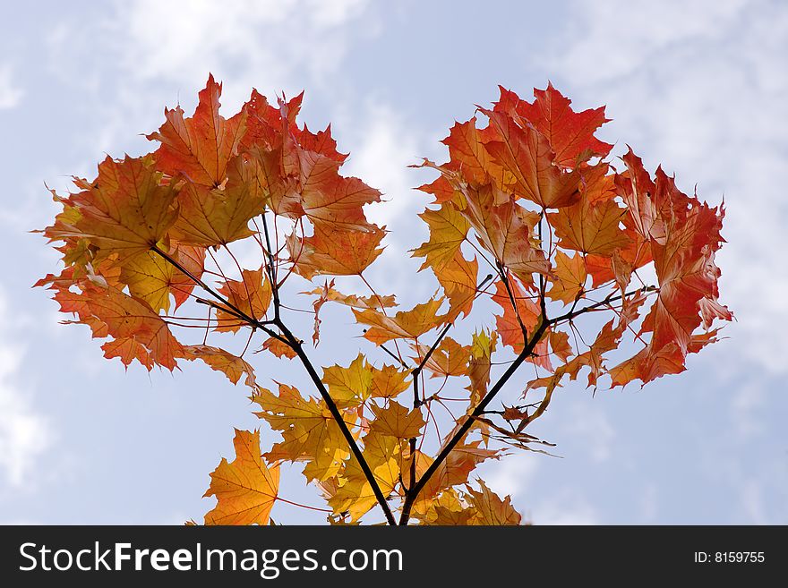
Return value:
M 154 152 L 158 169 L 167 175 L 185 175 L 193 183 L 216 188 L 224 183 L 230 158 L 236 155 L 246 127 L 246 111 L 230 119 L 218 114 L 221 84 L 208 77 L 192 118 L 181 107 L 165 108 L 167 121 L 147 135 L 160 141 Z

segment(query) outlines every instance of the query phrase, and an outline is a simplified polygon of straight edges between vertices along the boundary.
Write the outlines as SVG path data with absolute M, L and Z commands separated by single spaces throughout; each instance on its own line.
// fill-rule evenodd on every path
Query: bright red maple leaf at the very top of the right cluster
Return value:
M 595 156 L 604 158 L 612 145 L 599 141 L 594 133 L 610 119 L 604 117 L 604 107 L 575 112 L 571 100 L 547 84 L 547 89 L 534 89 L 535 100 L 521 100 L 509 89 L 501 87 L 501 99 L 496 109 L 516 113 L 534 125 L 550 143 L 555 162 L 561 166 L 575 167 L 578 162 Z

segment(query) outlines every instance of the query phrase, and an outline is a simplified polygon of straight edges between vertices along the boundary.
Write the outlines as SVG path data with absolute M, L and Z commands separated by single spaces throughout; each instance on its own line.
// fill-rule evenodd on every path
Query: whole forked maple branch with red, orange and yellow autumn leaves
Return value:
M 38 283 L 66 322 L 106 339 L 107 358 L 170 371 L 205 362 L 251 388 L 270 449 L 260 430 L 236 430 L 235 459 L 210 474 L 205 524 L 268 524 L 285 462 L 304 464 L 331 523 L 376 509 L 390 524 L 520 524 L 472 473 L 544 447 L 528 425 L 556 388 L 678 373 L 715 341 L 715 320 L 732 319 L 717 291 L 723 209 L 649 174 L 631 150 L 613 168 L 595 137 L 604 108 L 575 112 L 551 85 L 533 101 L 501 89 L 454 124 L 448 161 L 419 165 L 436 179 L 421 187 L 433 197 L 419 215 L 429 237 L 412 253 L 440 289 L 398 310 L 364 277 L 386 235 L 364 207 L 381 193 L 340 173 L 347 155 L 330 128 L 296 122 L 301 96 L 274 106 L 256 90 L 225 118 L 220 91 L 210 77 L 193 116 L 166 109 L 151 153 L 107 157 L 73 193 L 53 192 L 63 209 L 43 234 L 64 268 Z M 355 294 L 334 277 L 357 277 Z M 282 299 L 294 280 L 301 294 Z M 500 311 L 452 338 L 482 298 Z M 309 333 L 291 330 L 299 304 Z M 363 336 L 373 354 L 313 365 L 325 304 L 352 312 L 348 344 Z M 227 334 L 243 352 L 212 345 Z M 272 389 L 253 352 L 280 358 Z M 278 383 L 296 370 L 311 389 Z

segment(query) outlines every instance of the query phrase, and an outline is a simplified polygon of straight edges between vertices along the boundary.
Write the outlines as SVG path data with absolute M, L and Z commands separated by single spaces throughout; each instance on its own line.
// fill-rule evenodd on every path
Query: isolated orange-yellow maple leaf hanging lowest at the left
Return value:
M 205 524 L 268 524 L 277 499 L 279 467 L 265 464 L 260 455 L 260 431 L 237 430 L 233 439 L 236 459 L 222 458 L 210 474 L 205 497 L 217 505 L 205 515 Z

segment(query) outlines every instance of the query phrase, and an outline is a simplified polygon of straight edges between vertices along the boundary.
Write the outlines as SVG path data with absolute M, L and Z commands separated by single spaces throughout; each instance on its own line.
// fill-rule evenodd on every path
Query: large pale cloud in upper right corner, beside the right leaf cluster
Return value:
M 662 162 L 685 192 L 724 195 L 728 243 L 717 258 L 722 300 L 738 323 L 726 329 L 737 354 L 788 371 L 788 12 L 780 3 L 582 3 L 553 74 L 576 102 L 606 102 L 608 138 L 629 142 L 652 169 Z M 554 80 L 555 81 L 555 80 Z M 717 355 L 719 357 L 719 355 Z

